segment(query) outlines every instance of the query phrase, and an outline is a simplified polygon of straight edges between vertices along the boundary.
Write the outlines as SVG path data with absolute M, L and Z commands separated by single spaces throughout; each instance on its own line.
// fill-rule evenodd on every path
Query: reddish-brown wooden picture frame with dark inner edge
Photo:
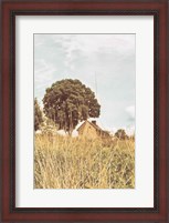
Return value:
M 1 222 L 168 222 L 167 204 L 167 1 L 2 0 Z M 18 14 L 152 14 L 155 18 L 155 206 L 152 209 L 15 207 L 15 45 Z

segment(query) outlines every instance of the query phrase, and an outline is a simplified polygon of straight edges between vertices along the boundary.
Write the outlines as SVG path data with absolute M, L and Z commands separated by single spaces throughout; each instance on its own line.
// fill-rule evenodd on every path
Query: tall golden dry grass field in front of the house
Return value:
M 134 140 L 35 135 L 35 189 L 134 189 Z

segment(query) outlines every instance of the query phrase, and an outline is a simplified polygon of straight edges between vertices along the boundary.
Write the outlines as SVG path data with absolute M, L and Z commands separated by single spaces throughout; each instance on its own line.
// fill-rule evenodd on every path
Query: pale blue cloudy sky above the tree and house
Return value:
M 101 104 L 108 131 L 135 126 L 135 34 L 34 34 L 34 97 L 62 79 L 78 79 Z

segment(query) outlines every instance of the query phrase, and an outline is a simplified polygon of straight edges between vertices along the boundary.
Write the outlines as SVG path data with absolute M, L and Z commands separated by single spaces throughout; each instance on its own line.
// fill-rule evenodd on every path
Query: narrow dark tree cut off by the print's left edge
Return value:
M 34 99 L 34 130 L 35 131 L 40 129 L 40 125 L 42 122 L 43 122 L 42 111 L 40 109 L 38 100 Z

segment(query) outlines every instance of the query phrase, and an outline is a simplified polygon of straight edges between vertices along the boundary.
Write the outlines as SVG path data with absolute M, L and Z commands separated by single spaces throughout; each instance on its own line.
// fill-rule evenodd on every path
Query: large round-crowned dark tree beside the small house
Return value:
M 47 88 L 43 98 L 44 113 L 72 134 L 78 121 L 99 116 L 101 105 L 95 93 L 80 80 L 65 79 Z

